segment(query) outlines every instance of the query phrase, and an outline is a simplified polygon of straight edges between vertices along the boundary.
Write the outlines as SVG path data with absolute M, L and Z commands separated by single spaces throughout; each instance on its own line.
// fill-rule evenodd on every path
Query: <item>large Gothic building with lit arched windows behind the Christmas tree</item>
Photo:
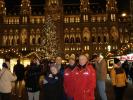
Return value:
M 18 52 L 40 51 L 41 26 L 51 15 L 57 31 L 59 53 L 64 57 L 95 52 L 106 54 L 130 41 L 129 16 L 121 16 L 116 0 L 108 0 L 106 11 L 93 12 L 89 0 L 80 4 L 63 4 L 62 0 L 45 0 L 44 13 L 34 15 L 30 0 L 22 0 L 19 15 L 7 14 L 0 0 L 0 49 Z M 108 48 L 110 47 L 110 48 Z

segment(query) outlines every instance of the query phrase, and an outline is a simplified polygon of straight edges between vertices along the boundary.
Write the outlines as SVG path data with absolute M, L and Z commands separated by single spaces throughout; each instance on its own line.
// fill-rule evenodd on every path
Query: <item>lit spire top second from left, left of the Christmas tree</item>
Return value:
M 31 5 L 30 0 L 22 0 L 21 1 L 21 15 L 31 15 Z

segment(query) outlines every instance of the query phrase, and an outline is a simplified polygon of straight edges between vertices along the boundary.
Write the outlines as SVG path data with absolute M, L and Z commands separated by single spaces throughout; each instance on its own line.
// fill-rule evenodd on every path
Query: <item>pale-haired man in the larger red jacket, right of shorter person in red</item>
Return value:
M 74 100 L 95 100 L 96 72 L 85 55 L 79 57 L 79 66 L 73 70 Z

